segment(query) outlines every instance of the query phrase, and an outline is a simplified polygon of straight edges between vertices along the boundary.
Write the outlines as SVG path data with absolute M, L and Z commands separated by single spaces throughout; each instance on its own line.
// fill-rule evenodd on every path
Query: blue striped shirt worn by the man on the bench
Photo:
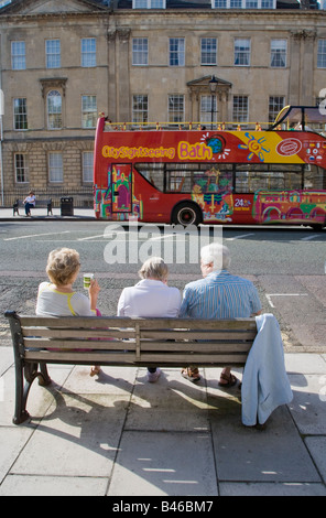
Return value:
M 251 281 L 219 270 L 186 284 L 180 317 L 249 317 L 260 310 L 259 294 Z

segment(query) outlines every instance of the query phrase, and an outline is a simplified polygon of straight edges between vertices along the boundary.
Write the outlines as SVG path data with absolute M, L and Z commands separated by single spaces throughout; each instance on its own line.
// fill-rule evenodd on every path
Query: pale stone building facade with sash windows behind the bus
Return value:
M 314 105 L 326 88 L 326 11 L 248 1 L 0 2 L 1 203 L 30 188 L 90 202 L 99 112 L 246 128 Z

